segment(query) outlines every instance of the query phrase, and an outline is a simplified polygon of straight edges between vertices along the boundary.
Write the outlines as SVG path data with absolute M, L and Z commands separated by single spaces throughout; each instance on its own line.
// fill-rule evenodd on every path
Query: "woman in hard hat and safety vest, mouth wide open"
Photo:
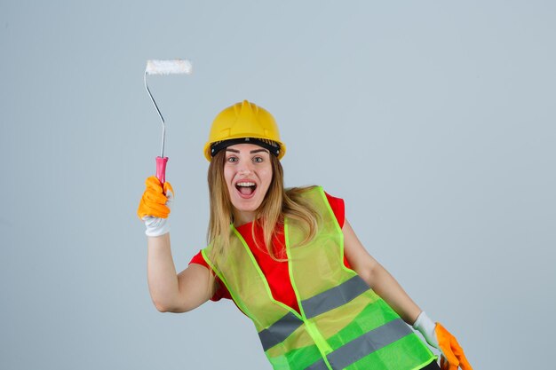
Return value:
M 412 325 L 441 350 L 441 368 L 472 370 L 456 339 L 421 311 L 369 256 L 343 201 L 311 186 L 284 190 L 274 118 L 248 101 L 222 111 L 210 161 L 209 247 L 176 273 L 169 183 L 147 179 L 148 283 L 159 311 L 234 299 L 257 328 L 274 369 L 438 369 Z

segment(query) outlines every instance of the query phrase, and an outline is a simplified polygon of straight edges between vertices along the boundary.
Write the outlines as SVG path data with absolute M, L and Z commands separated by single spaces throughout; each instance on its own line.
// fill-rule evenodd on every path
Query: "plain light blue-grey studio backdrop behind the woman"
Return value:
M 233 303 L 159 313 L 135 216 L 168 123 L 178 270 L 203 248 L 210 122 L 271 111 L 475 369 L 545 368 L 556 311 L 549 1 L 0 1 L 0 368 L 268 369 Z M 549 366 L 549 365 L 548 365 Z

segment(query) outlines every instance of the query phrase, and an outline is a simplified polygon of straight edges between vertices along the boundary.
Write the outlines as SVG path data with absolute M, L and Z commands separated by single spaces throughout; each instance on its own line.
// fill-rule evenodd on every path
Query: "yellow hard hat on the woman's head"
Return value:
M 272 114 L 247 100 L 228 106 L 216 116 L 204 146 L 204 156 L 210 161 L 221 149 L 240 143 L 263 146 L 279 160 L 286 154 Z

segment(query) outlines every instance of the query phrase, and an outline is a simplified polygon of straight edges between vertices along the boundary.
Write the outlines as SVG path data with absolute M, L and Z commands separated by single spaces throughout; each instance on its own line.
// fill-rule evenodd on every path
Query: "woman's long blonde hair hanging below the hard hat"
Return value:
M 215 261 L 215 256 L 221 256 L 230 245 L 230 224 L 234 222 L 233 205 L 224 177 L 224 164 L 226 151 L 220 151 L 210 161 L 208 182 L 210 194 L 210 220 L 207 231 L 207 241 L 212 244 L 210 260 Z M 270 155 L 273 177 L 266 192 L 265 198 L 257 209 L 255 222 L 252 223 L 251 233 L 258 248 L 262 248 L 255 237 L 255 226 L 261 226 L 264 235 L 266 252 L 276 261 L 283 261 L 274 254 L 272 240 L 276 234 L 276 226 L 283 224 L 284 218 L 289 217 L 299 221 L 306 229 L 304 244 L 314 238 L 317 232 L 319 214 L 307 201 L 302 198 L 302 193 L 312 188 L 295 187 L 284 189 L 282 163 Z M 260 241 L 260 240 L 259 240 Z

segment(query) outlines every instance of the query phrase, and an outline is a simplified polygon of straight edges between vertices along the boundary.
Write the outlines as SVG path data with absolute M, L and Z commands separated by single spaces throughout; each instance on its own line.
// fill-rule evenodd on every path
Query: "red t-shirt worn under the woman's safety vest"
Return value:
M 326 198 L 329 201 L 330 208 L 332 209 L 334 215 L 336 216 L 336 219 L 338 220 L 338 224 L 340 225 L 340 227 L 343 227 L 345 220 L 344 200 L 333 197 L 328 193 L 325 194 Z M 266 280 L 268 281 L 268 286 L 270 287 L 270 291 L 272 292 L 274 299 L 290 306 L 296 311 L 299 311 L 298 300 L 291 285 L 288 261 L 274 261 L 274 259 L 272 259 L 270 255 L 268 255 L 268 252 L 266 250 L 257 248 L 255 241 L 253 240 L 251 227 L 252 223 L 242 224 L 241 226 L 237 227 L 236 230 L 242 235 L 243 240 L 245 240 L 251 252 L 253 253 L 253 256 L 255 256 L 255 260 L 257 261 L 260 270 L 265 274 Z M 283 225 L 279 227 L 280 228 L 277 230 L 276 233 L 277 236 L 275 237 L 273 242 L 274 254 L 278 257 L 285 258 L 286 251 L 285 248 L 283 248 L 283 246 L 285 245 Z M 260 226 L 255 228 L 255 235 L 257 237 L 257 240 L 264 240 L 263 230 Z M 209 264 L 207 264 L 207 262 L 204 260 L 203 254 L 201 252 L 197 253 L 191 259 L 189 264 L 202 264 L 206 268 L 209 268 Z M 346 264 L 346 267 L 350 268 L 349 264 L 346 261 L 346 257 L 344 257 L 344 264 Z M 212 301 L 219 301 L 222 298 L 232 299 L 230 292 L 218 278 L 217 285 L 218 288 L 211 298 Z

